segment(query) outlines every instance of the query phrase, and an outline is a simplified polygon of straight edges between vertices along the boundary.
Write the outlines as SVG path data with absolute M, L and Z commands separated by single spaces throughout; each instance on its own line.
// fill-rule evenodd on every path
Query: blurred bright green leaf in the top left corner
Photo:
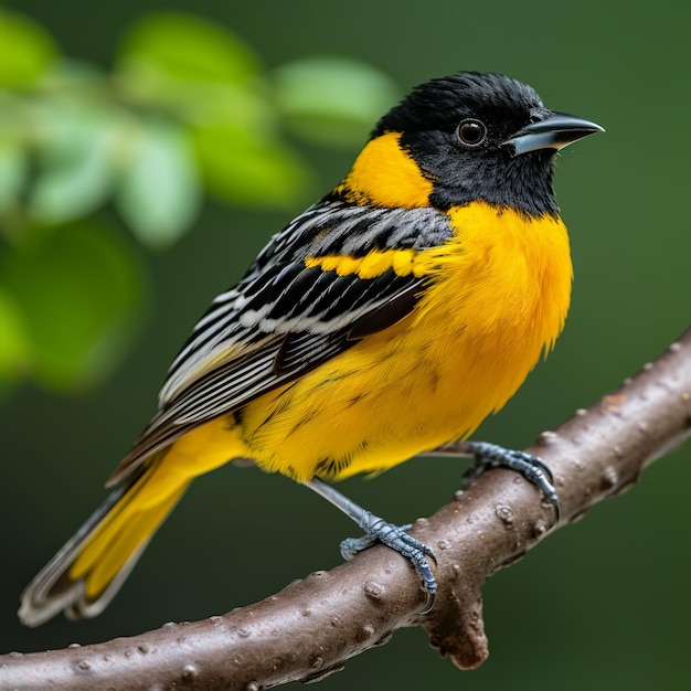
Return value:
M 30 86 L 56 55 L 55 43 L 38 23 L 0 10 L 0 85 Z

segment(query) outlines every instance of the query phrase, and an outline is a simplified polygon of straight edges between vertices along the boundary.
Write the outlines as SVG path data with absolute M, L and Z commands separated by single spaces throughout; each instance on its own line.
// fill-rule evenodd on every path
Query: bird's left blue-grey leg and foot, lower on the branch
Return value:
M 319 478 L 312 478 L 305 482 L 306 487 L 315 490 L 318 495 L 330 501 L 334 507 L 340 509 L 346 515 L 355 521 L 364 531 L 362 538 L 348 538 L 341 542 L 341 555 L 344 560 L 351 560 L 355 554 L 371 548 L 376 542 L 381 542 L 398 554 L 404 556 L 415 567 L 415 571 L 422 577 L 422 588 L 427 594 L 427 605 L 425 613 L 429 612 L 434 606 L 434 599 L 437 592 L 437 582 L 435 581 L 432 570 L 429 568 L 428 559 L 436 563 L 432 550 L 407 534 L 411 525 L 394 525 L 382 518 L 370 513 L 355 502 L 351 501 L 333 489 Z

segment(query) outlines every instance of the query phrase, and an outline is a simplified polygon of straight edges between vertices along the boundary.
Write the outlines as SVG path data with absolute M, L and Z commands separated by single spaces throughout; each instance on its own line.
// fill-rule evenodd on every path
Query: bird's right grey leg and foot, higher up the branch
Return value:
M 554 508 L 556 520 L 559 521 L 559 497 L 554 489 L 552 471 L 538 456 L 531 456 L 524 451 L 504 448 L 487 442 L 445 444 L 425 455 L 469 456 L 475 458 L 475 465 L 464 475 L 464 486 L 466 487 L 488 468 L 515 470 L 544 493 L 546 500 Z

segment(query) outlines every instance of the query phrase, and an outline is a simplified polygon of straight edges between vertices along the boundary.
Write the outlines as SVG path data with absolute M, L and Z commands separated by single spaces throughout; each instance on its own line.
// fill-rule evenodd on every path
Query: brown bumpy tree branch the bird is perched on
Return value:
M 635 379 L 542 434 L 528 450 L 554 472 L 563 525 L 627 489 L 690 434 L 691 329 Z M 415 572 L 375 546 L 224 616 L 81 648 L 0 656 L 0 687 L 258 691 L 325 677 L 386 642 L 395 629 L 417 625 L 458 667 L 475 668 L 488 653 L 485 581 L 520 559 L 553 522 L 553 510 L 517 474 L 486 472 L 413 528 L 438 562 L 439 593 L 427 615 L 416 614 L 425 596 Z

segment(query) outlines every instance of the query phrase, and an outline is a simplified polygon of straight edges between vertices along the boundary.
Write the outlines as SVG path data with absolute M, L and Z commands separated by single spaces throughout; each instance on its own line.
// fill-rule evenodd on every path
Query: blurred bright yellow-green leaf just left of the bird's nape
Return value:
M 224 201 L 261 208 L 291 208 L 311 179 L 285 145 L 231 127 L 205 127 L 194 140 L 206 185 Z

